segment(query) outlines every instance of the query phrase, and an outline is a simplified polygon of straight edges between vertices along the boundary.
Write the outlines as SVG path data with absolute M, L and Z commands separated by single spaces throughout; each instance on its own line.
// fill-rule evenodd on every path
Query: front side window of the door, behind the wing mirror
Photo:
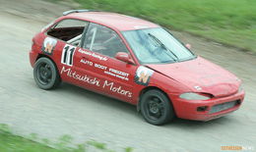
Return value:
M 117 52 L 128 53 L 122 39 L 115 31 L 96 24 L 90 24 L 83 47 L 108 57 L 114 57 Z

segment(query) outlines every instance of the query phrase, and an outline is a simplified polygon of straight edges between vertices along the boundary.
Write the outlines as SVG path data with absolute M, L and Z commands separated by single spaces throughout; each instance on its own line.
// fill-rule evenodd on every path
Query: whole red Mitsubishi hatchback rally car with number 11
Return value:
M 32 38 L 38 87 L 61 81 L 137 105 L 145 120 L 209 121 L 237 110 L 241 80 L 195 55 L 167 30 L 125 15 L 71 10 Z

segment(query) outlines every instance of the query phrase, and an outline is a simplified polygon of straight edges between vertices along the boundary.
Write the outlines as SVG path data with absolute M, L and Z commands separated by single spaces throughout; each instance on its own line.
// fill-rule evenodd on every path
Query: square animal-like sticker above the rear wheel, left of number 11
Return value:
M 56 46 L 56 43 L 57 43 L 56 39 L 53 39 L 53 38 L 50 38 L 50 37 L 46 37 L 44 39 L 44 41 L 43 41 L 43 44 L 42 44 L 42 47 L 41 47 L 41 51 L 44 54 L 52 55 L 53 50 L 54 50 L 54 48 Z

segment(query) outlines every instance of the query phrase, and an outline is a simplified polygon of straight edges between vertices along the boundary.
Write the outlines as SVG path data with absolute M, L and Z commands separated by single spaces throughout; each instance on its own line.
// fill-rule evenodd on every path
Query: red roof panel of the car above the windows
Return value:
M 72 13 L 65 17 L 85 20 L 99 25 L 106 25 L 120 31 L 160 27 L 160 25 L 139 18 L 109 12 Z

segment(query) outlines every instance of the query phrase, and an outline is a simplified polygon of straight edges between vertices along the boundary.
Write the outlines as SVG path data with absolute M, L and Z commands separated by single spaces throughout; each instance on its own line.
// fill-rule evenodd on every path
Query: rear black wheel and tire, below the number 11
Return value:
M 33 68 L 33 78 L 39 88 L 53 89 L 60 82 L 60 76 L 55 64 L 48 58 L 39 58 Z

